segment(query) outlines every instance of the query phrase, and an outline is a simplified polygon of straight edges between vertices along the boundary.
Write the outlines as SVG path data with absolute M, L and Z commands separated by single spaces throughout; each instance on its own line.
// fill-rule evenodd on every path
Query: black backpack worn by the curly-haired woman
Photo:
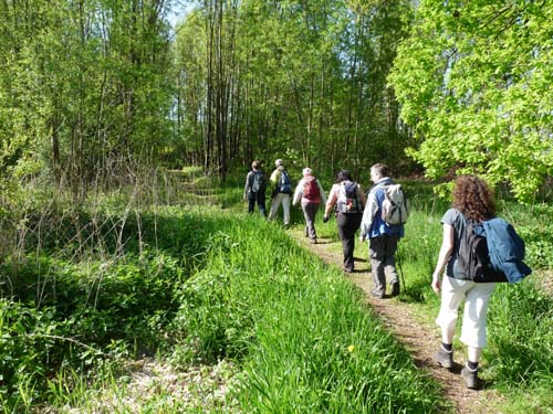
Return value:
M 474 229 L 481 225 L 467 219 L 467 226 L 460 238 L 458 265 L 467 278 L 476 283 L 509 282 L 503 272 L 493 269 L 487 238 L 474 233 Z

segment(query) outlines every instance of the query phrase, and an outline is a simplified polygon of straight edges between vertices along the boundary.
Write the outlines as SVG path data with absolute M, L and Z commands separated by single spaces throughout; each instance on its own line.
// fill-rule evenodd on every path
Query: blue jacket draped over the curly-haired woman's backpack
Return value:
M 498 272 L 503 272 L 510 283 L 522 280 L 532 269 L 524 262 L 524 241 L 513 226 L 500 217 L 487 220 L 474 226 L 474 233 L 486 237 L 490 262 Z

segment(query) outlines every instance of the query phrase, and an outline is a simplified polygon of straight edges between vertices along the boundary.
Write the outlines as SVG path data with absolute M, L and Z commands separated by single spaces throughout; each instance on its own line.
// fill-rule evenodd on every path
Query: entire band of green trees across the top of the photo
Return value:
M 547 1 L 3 0 L 0 188 L 82 197 L 135 167 L 553 172 Z M 410 158 L 409 158 L 410 157 Z

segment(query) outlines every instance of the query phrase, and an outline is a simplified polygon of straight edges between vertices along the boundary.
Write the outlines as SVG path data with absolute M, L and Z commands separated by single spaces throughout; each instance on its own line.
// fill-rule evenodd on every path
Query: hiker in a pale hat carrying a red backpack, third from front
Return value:
M 298 205 L 300 201 L 305 216 L 305 237 L 310 237 L 311 243 L 316 243 L 315 215 L 321 203 L 326 204 L 326 195 L 309 167 L 303 169 L 303 178 L 295 188 L 292 204 Z

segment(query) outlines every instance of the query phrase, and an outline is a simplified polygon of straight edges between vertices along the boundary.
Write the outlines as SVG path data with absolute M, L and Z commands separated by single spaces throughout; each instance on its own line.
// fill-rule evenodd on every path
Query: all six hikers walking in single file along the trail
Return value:
M 292 191 L 290 176 L 281 159 L 275 161 L 271 173 L 272 202 L 269 220 L 276 217 L 280 205 L 283 206 L 284 225 L 290 224 L 290 201 L 301 208 L 305 216 L 305 236 L 316 243 L 314 226 L 315 214 L 320 205 L 325 205 L 323 222 L 327 222 L 334 212 L 338 236 L 343 247 L 343 269 L 354 272 L 355 234 L 361 229 L 361 241 L 368 240 L 368 257 L 371 262 L 373 288 L 371 295 L 376 299 L 399 295 L 400 285 L 395 266 L 395 253 L 398 241 L 404 236 L 404 225 L 399 221 L 390 224 L 384 219 L 388 187 L 394 182 L 390 170 L 384 163 L 371 167 L 371 190 L 365 193 L 347 170 L 337 173 L 328 197 L 325 197 L 320 181 L 310 168 L 303 169 L 303 178 Z M 244 198 L 248 211 L 254 211 L 255 203 L 261 214 L 265 213 L 265 189 L 262 161 L 253 161 L 248 173 Z M 431 276 L 431 287 L 441 295 L 441 304 L 436 323 L 441 328 L 441 343 L 434 360 L 446 369 L 453 368 L 453 335 L 458 312 L 465 301 L 460 340 L 468 347 L 467 363 L 461 370 L 461 378 L 467 388 L 479 389 L 478 365 L 482 349 L 487 346 L 487 310 L 495 283 L 476 283 L 471 275 L 459 266 L 461 240 L 471 223 L 480 223 L 493 219 L 495 204 L 490 187 L 476 176 L 458 177 L 452 192 L 452 206 L 444 214 L 442 243 L 436 268 Z M 530 269 L 528 269 L 530 272 Z M 389 296 L 386 295 L 386 282 L 389 284 Z

